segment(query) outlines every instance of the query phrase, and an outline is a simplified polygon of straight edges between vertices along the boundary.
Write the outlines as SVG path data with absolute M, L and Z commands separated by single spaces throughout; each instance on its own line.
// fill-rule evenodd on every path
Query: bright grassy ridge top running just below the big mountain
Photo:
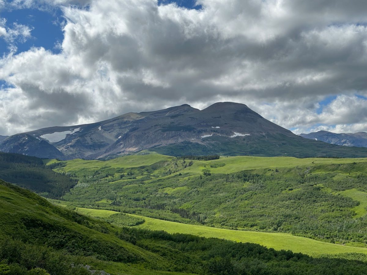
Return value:
M 66 161 L 66 166 L 55 169 L 57 172 L 76 172 L 79 170 L 98 170 L 102 168 L 138 168 L 143 166 L 153 165 L 160 161 L 174 161 L 174 157 L 160 154 L 147 155 L 129 155 L 123 156 L 109 161 L 98 160 L 83 160 L 73 159 Z M 187 160 L 186 160 L 187 161 Z M 46 165 L 57 162 L 55 159 L 46 159 Z M 177 162 L 182 162 L 179 160 Z M 319 172 L 325 172 L 323 165 L 341 165 L 352 164 L 359 162 L 367 162 L 367 158 L 294 158 L 294 157 L 251 157 L 251 156 L 236 156 L 236 157 L 221 157 L 212 161 L 193 161 L 192 166 L 188 166 L 180 172 L 185 176 L 202 174 L 204 169 L 210 169 L 214 174 L 228 174 L 240 172 L 243 170 L 258 170 L 265 169 L 289 169 L 294 167 L 310 167 L 317 168 Z M 211 167 L 214 166 L 214 167 Z M 354 171 L 361 172 L 361 171 Z M 172 173 L 162 178 L 169 178 L 177 175 L 179 172 Z

